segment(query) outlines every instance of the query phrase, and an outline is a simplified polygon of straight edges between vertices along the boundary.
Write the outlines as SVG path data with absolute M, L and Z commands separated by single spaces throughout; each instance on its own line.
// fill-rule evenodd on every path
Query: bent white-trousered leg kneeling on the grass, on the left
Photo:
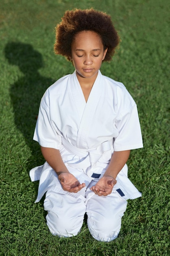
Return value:
M 85 214 L 83 197 L 72 197 L 54 191 L 47 191 L 44 200 L 47 225 L 53 235 L 76 236 L 81 230 Z

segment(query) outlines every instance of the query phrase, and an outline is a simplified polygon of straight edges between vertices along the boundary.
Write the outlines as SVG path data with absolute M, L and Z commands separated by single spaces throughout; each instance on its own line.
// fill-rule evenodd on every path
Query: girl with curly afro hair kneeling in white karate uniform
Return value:
M 76 236 L 87 213 L 96 240 L 120 231 L 127 199 L 141 193 L 127 177 L 130 150 L 142 148 L 137 107 L 124 85 L 100 73 L 119 43 L 110 16 L 94 9 L 66 11 L 56 27 L 56 54 L 73 74 L 55 82 L 41 99 L 34 140 L 46 162 L 30 171 L 44 193 L 50 232 Z

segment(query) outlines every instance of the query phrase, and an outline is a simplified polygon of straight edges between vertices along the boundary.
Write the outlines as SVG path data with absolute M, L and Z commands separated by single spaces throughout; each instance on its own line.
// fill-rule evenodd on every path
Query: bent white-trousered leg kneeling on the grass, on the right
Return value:
M 99 241 L 109 242 L 117 238 L 127 201 L 116 192 L 111 195 L 92 195 L 87 201 L 87 225 L 91 235 Z

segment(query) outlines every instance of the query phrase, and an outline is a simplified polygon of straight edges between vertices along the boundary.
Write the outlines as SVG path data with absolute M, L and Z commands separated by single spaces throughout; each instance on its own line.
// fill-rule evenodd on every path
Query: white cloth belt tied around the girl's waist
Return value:
M 68 150 L 73 155 L 78 155 L 82 158 L 80 162 L 78 163 L 70 163 L 67 162 L 70 166 L 74 168 L 87 168 L 89 166 L 92 166 L 102 156 L 102 154 L 105 151 L 111 150 L 111 144 L 113 143 L 113 139 L 110 139 L 109 141 L 102 142 L 97 148 L 92 149 L 84 149 L 84 148 L 77 148 L 76 146 L 73 146 L 68 142 L 66 139 L 62 137 L 62 144 L 63 147 Z

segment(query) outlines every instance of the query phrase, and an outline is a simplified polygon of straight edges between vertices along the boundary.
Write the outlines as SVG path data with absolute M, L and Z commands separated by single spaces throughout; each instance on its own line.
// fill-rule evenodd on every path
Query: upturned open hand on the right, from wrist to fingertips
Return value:
M 113 189 L 113 186 L 116 184 L 116 180 L 111 176 L 103 176 L 95 186 L 92 186 L 91 190 L 96 195 L 109 195 Z

